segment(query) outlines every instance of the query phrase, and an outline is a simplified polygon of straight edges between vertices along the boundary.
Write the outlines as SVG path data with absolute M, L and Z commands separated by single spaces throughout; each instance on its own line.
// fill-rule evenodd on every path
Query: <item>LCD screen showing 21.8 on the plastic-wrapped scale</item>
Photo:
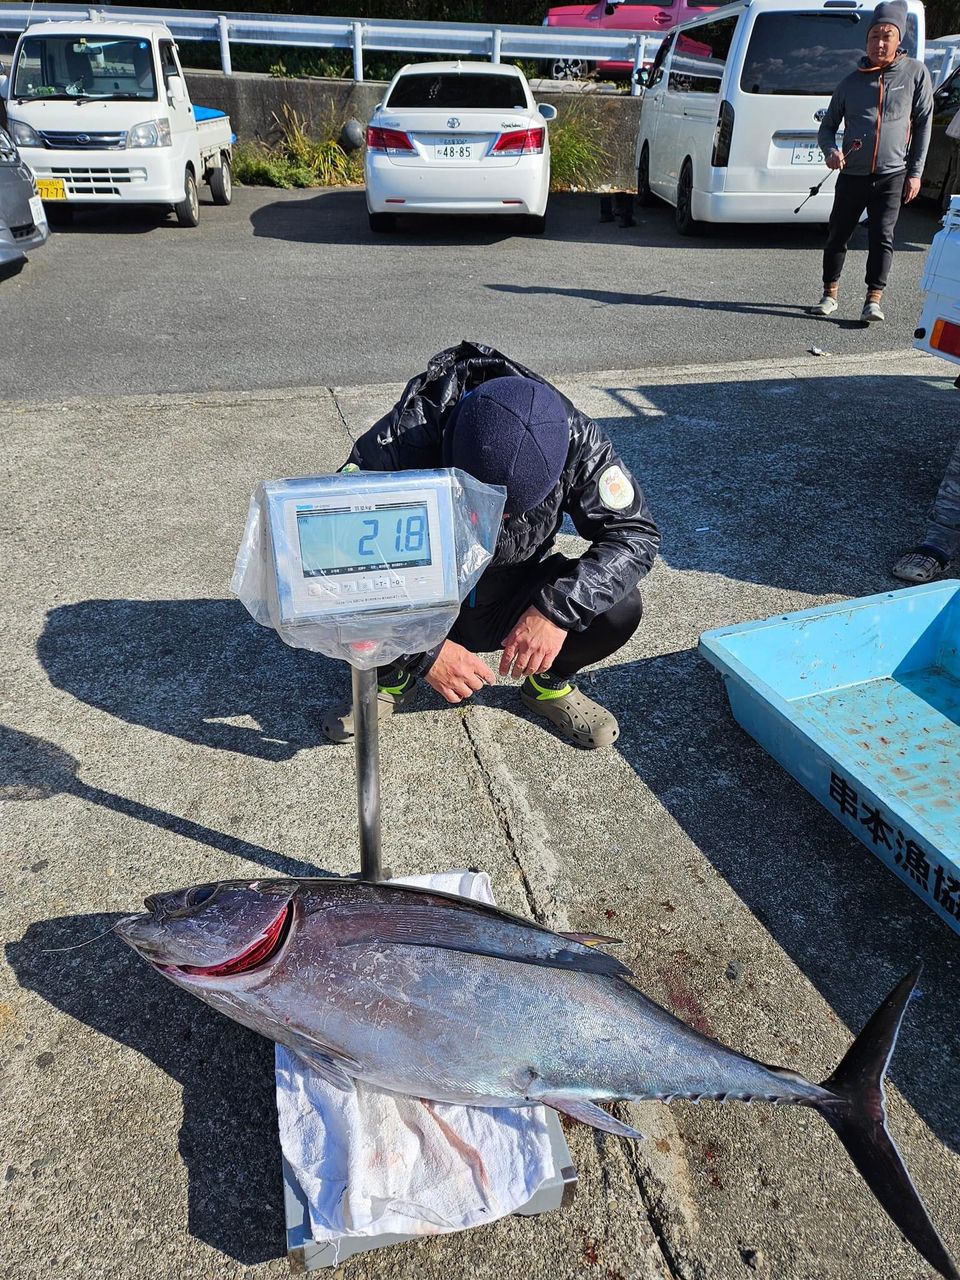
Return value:
M 297 512 L 305 577 L 430 564 L 426 503 Z

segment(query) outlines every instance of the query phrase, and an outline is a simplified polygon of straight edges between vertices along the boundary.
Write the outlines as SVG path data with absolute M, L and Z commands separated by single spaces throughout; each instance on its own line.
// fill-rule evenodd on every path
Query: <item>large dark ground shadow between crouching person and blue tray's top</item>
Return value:
M 600 425 L 640 481 L 673 568 L 868 595 L 899 585 L 888 566 L 922 536 L 955 447 L 948 374 L 931 361 L 928 379 L 607 385 L 627 416 Z

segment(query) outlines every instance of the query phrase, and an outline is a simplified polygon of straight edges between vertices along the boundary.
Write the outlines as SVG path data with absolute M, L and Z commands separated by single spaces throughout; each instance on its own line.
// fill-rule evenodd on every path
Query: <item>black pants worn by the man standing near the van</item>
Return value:
M 893 229 L 904 202 L 906 170 L 884 174 L 841 173 L 823 250 L 823 283 L 840 279 L 846 244 L 867 210 L 867 288 L 884 289 L 893 260 Z

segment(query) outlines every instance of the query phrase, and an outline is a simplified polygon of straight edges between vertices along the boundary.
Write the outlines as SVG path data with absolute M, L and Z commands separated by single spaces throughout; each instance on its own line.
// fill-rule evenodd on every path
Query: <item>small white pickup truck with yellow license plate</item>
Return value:
M 17 41 L 0 93 L 54 218 L 77 205 L 166 205 L 180 227 L 196 227 L 201 182 L 215 205 L 230 202 L 230 120 L 193 106 L 163 24 L 96 12 L 35 23 Z

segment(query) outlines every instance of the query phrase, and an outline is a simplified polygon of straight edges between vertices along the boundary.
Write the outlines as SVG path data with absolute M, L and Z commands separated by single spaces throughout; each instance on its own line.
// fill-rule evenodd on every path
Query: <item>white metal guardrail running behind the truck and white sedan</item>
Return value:
M 230 44 L 300 45 L 310 49 L 351 49 L 353 78 L 364 79 L 364 52 L 439 54 L 444 58 L 504 58 L 548 60 L 582 58 L 590 61 L 649 61 L 663 33 L 577 31 L 568 27 L 512 27 L 470 22 L 392 22 L 374 18 L 311 18 L 282 13 L 212 13 L 188 9 L 133 9 L 93 5 L 105 18 L 124 22 L 163 22 L 177 40 L 216 41 L 227 76 L 233 73 Z M 23 31 L 37 22 L 77 22 L 78 5 L 0 4 L 0 29 Z M 637 92 L 636 78 L 631 92 Z

